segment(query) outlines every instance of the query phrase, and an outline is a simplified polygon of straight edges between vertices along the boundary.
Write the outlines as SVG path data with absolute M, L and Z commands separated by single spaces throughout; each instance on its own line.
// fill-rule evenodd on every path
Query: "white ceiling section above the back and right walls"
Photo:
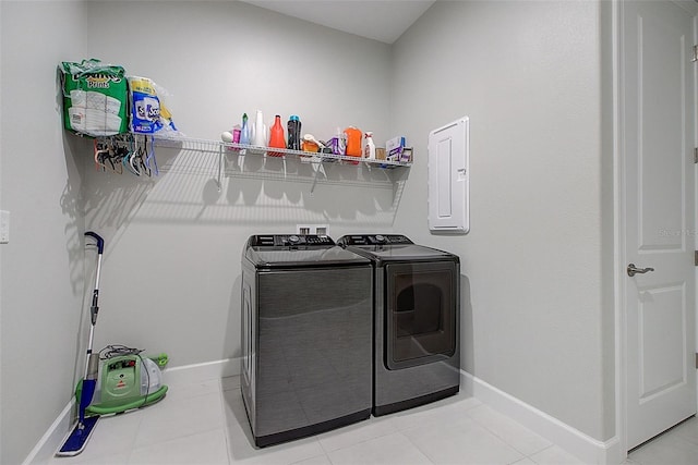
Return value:
M 242 0 L 266 10 L 393 44 L 434 0 Z

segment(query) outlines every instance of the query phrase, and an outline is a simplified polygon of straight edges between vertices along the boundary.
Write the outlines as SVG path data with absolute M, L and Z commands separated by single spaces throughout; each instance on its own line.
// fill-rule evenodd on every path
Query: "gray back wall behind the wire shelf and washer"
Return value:
M 349 124 L 387 137 L 385 44 L 241 2 L 89 2 L 87 11 L 132 30 L 147 32 L 157 19 L 169 32 L 148 41 L 151 52 L 134 53 L 121 29 L 89 21 L 87 56 L 167 88 L 189 137 L 218 139 L 256 109 L 267 124 L 277 113 L 284 124 L 299 114 L 303 132 L 318 138 Z M 268 160 L 279 178 L 236 171 L 219 193 L 214 158 L 195 150 L 157 155 L 168 169 L 157 179 L 99 172 L 85 157 L 86 223 L 107 241 L 97 346 L 167 352 L 171 367 L 238 357 L 240 257 L 251 234 L 293 232 L 302 223 L 329 224 L 334 237 L 392 230 L 393 189 L 353 185 L 384 173 L 333 166 L 337 182 L 311 194 L 310 184 L 297 182 L 308 164 L 288 160 L 284 180 L 282 164 Z M 244 163 L 260 168 L 252 156 Z

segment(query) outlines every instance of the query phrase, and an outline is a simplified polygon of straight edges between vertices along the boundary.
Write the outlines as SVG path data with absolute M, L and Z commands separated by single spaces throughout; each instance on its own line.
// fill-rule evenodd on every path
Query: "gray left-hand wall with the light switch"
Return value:
M 3 1 L 0 12 L 0 193 L 11 212 L 10 243 L 0 245 L 0 463 L 16 464 L 65 407 L 75 382 L 83 154 L 61 129 L 56 68 L 84 54 L 86 16 L 81 2 Z

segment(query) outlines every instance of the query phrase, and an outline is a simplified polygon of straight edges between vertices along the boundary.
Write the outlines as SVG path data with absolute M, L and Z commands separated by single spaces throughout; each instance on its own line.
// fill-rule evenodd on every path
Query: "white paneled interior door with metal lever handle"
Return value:
M 689 8 L 690 10 L 690 8 Z M 631 449 L 696 413 L 694 16 L 621 3 L 626 420 Z

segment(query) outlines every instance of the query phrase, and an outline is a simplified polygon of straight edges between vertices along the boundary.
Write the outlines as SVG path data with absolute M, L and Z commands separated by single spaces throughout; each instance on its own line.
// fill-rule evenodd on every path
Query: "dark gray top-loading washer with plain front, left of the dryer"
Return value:
M 240 384 L 257 446 L 371 416 L 371 261 L 327 236 L 248 240 Z

